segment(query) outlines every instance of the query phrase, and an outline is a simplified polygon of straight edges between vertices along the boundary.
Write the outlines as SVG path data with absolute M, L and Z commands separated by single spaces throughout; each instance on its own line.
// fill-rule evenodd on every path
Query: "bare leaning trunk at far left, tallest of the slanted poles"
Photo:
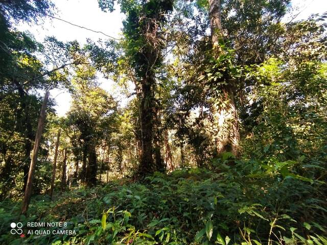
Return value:
M 45 92 L 43 104 L 41 107 L 39 122 L 37 125 L 37 131 L 36 131 L 34 148 L 33 148 L 33 155 L 32 155 L 27 185 L 26 185 L 26 189 L 25 189 L 25 193 L 24 193 L 24 199 L 22 201 L 21 214 L 24 214 L 24 215 L 27 213 L 27 210 L 28 210 L 29 204 L 30 204 L 31 195 L 32 195 L 34 169 L 35 169 L 35 164 L 37 161 L 37 154 L 38 154 L 40 143 L 41 143 L 41 136 L 42 136 L 42 131 L 44 128 L 44 120 L 45 120 L 45 110 L 46 110 L 46 104 L 48 103 L 48 100 L 49 100 L 49 94 L 50 94 L 49 91 Z

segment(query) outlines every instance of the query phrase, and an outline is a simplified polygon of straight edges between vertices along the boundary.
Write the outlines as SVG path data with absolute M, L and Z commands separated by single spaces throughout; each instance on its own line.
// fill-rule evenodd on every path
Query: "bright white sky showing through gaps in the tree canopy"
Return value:
M 118 6 L 115 6 L 115 11 L 112 13 L 105 13 L 98 7 L 97 0 L 55 0 L 53 2 L 58 10 L 55 16 L 78 24 L 78 26 L 101 31 L 109 36 L 119 38 L 124 15 L 120 13 Z M 298 14 L 294 21 L 306 19 L 311 14 L 327 12 L 327 0 L 292 0 L 292 6 L 295 8 L 294 14 Z M 288 22 L 294 17 L 294 14 L 286 16 L 284 21 Z M 100 33 L 81 29 L 51 17 L 44 18 L 38 24 L 20 23 L 17 29 L 29 31 L 39 42 L 42 42 L 46 36 L 55 36 L 60 41 L 77 40 L 82 45 L 86 43 L 86 38 L 94 41 L 99 38 L 107 39 L 106 36 Z M 99 82 L 103 89 L 120 101 L 121 106 L 127 103 L 125 97 L 118 95 L 120 94 L 119 87 L 113 81 L 106 80 L 99 74 Z M 65 90 L 53 89 L 51 90 L 51 96 L 56 100 L 57 106 L 55 109 L 57 114 L 59 116 L 65 115 L 71 105 L 69 93 Z

